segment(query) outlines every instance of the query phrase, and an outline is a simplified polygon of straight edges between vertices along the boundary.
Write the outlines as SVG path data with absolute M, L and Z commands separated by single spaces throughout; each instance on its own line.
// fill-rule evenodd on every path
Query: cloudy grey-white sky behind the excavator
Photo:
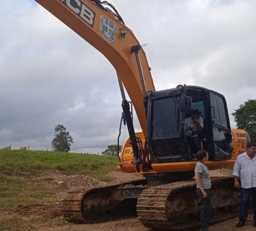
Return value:
M 225 95 L 229 114 L 256 98 L 256 1 L 109 2 L 147 44 L 157 90 L 204 86 Z M 73 152 L 117 143 L 121 95 L 108 60 L 33 0 L 2 1 L 0 25 L 0 147 L 51 150 L 58 123 Z

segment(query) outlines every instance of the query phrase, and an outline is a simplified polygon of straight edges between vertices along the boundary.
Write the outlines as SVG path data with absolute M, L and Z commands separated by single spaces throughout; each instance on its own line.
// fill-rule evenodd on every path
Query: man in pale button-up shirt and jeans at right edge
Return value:
M 235 188 L 241 191 L 239 222 L 236 227 L 245 224 L 249 201 L 252 196 L 254 202 L 254 227 L 256 227 L 256 144 L 248 143 L 246 152 L 240 154 L 233 168 Z

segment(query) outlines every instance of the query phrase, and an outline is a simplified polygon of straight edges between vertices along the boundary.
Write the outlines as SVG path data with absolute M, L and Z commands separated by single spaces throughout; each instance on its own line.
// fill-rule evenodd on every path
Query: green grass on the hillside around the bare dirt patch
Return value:
M 51 151 L 0 150 L 0 207 L 54 204 L 60 202 L 55 192 L 40 185 L 29 184 L 33 176 L 44 170 L 63 174 L 88 174 L 99 181 L 111 181 L 107 173 L 116 170 L 118 157 Z

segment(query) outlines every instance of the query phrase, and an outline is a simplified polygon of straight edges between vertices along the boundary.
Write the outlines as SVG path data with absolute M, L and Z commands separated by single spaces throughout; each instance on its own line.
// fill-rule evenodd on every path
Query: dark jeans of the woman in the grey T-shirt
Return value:
M 205 189 L 207 198 L 203 198 L 202 191 L 196 187 L 196 194 L 199 204 L 201 205 L 201 230 L 207 231 L 210 223 L 211 207 L 212 207 L 212 190 Z

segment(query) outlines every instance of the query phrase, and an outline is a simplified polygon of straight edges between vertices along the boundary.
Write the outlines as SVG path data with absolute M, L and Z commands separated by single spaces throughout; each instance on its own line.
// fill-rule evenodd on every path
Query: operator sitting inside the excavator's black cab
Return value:
M 201 117 L 201 111 L 192 109 L 191 116 L 185 119 L 185 135 L 187 145 L 190 148 L 191 157 L 196 159 L 196 153 L 200 150 L 199 135 L 204 128 L 204 121 Z

